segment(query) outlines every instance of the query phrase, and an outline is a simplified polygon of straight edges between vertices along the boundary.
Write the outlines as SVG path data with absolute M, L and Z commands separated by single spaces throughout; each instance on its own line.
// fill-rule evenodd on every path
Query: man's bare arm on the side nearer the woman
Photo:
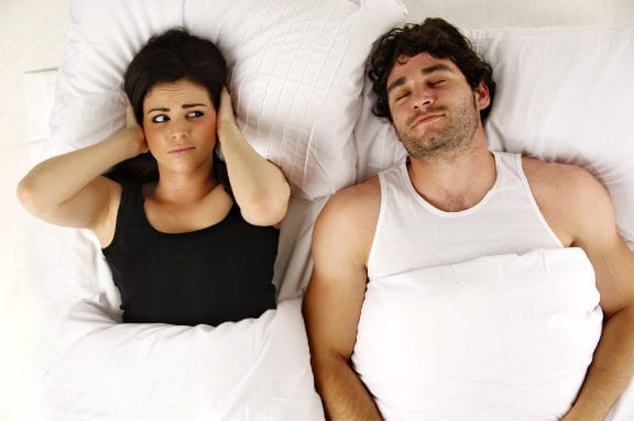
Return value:
M 314 269 L 303 310 L 315 383 L 329 420 L 381 419 L 350 359 L 379 195 L 376 180 L 347 189 L 326 204 L 315 225 Z

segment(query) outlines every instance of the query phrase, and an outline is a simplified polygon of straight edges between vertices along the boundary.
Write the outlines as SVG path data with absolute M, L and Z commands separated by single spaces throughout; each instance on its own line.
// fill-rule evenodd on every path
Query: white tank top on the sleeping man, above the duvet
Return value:
M 493 188 L 470 209 L 445 212 L 416 192 L 405 160 L 379 174 L 381 210 L 370 280 L 481 256 L 564 247 L 539 211 L 518 154 L 494 152 Z

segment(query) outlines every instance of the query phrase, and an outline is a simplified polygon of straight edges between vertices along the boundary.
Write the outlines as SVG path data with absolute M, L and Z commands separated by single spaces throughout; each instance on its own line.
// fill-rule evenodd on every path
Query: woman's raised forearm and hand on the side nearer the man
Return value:
M 227 89 L 222 90 L 217 119 L 218 141 L 242 217 L 254 225 L 278 223 L 286 214 L 291 188 L 282 170 L 244 140 Z

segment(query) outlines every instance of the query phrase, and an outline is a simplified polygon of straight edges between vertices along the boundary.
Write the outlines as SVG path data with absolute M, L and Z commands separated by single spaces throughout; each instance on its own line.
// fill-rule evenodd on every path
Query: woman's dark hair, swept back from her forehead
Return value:
M 227 64 L 212 42 L 172 29 L 150 38 L 125 70 L 123 90 L 140 124 L 147 92 L 158 82 L 179 79 L 204 86 L 218 109 Z

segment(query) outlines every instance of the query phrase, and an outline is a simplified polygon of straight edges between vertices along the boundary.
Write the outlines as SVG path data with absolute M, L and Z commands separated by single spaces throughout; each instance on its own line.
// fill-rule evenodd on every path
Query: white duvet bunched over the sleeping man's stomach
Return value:
M 601 334 L 580 248 L 373 279 L 353 363 L 385 420 L 557 420 Z

